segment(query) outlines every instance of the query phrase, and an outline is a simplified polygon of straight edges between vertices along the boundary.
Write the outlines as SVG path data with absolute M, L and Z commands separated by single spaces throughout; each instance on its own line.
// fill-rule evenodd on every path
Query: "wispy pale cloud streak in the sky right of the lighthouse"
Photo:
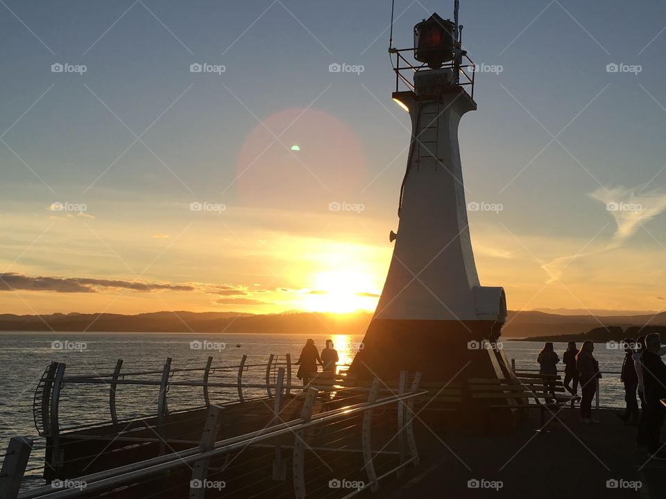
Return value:
M 541 268 L 548 274 L 546 283 L 561 279 L 564 269 L 574 260 L 622 247 L 638 231 L 639 227 L 666 210 L 666 191 L 663 189 L 643 193 L 642 189 L 638 190 L 638 188 L 625 189 L 623 186 L 619 186 L 614 189 L 605 189 L 599 187 L 589 195 L 590 198 L 604 203 L 606 211 L 613 216 L 616 225 L 613 238 L 606 246 L 599 249 L 588 252 L 581 250 L 580 253 L 560 256 L 541 265 Z

